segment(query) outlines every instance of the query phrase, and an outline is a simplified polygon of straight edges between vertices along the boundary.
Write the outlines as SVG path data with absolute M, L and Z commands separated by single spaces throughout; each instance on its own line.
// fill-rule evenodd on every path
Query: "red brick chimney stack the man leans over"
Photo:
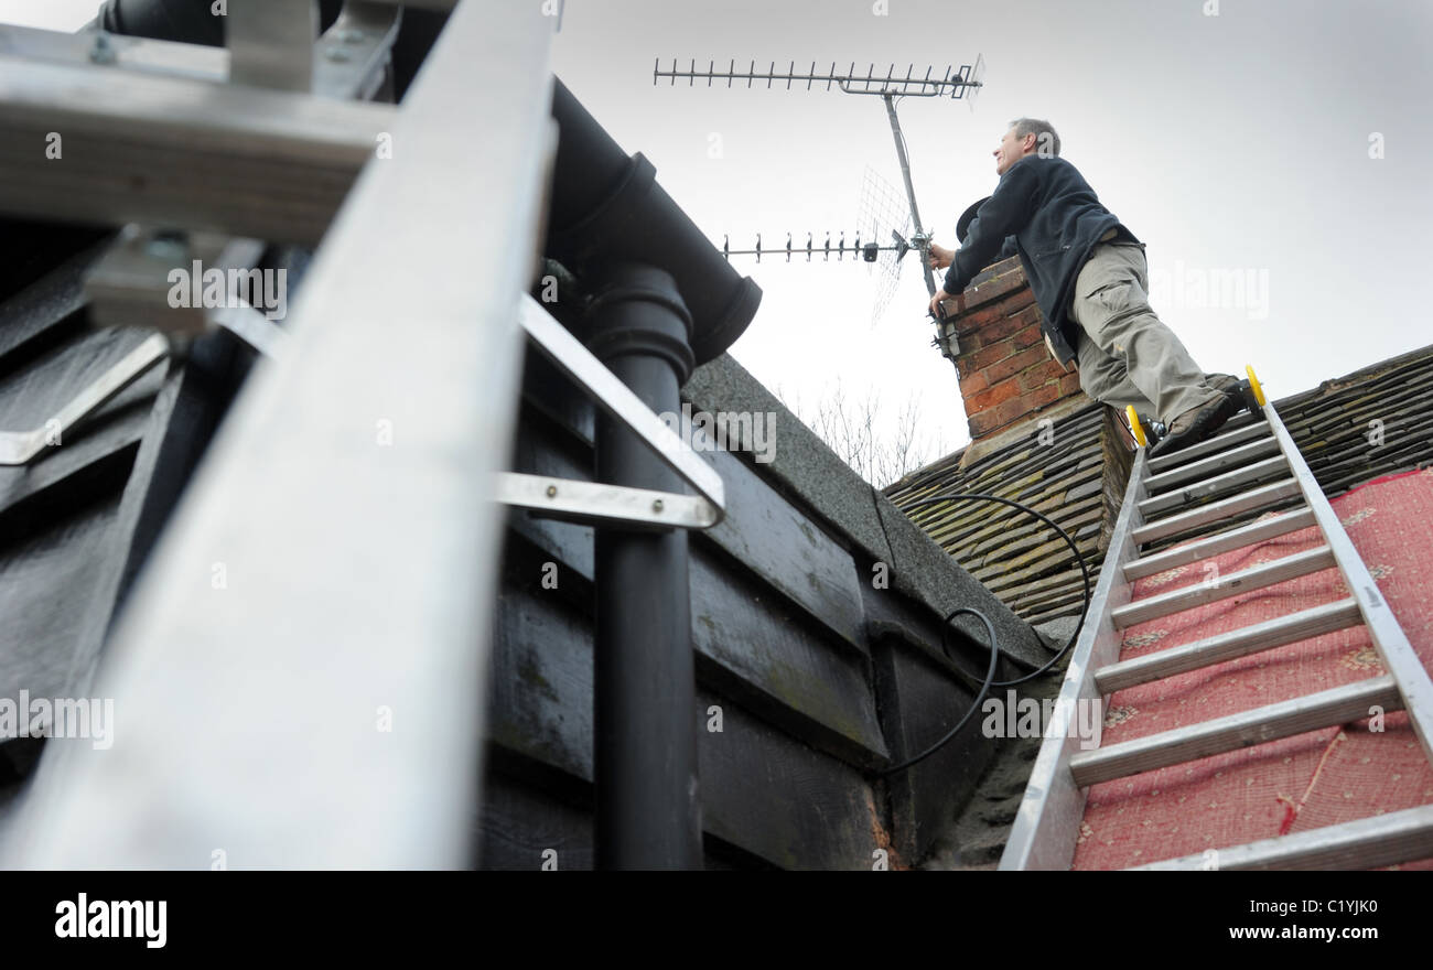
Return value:
M 1003 444 L 1027 434 L 1030 421 L 1091 404 L 1075 364 L 1060 367 L 1045 342 L 1043 317 L 1019 256 L 987 266 L 970 281 L 964 297 L 963 314 L 947 301 L 949 315 L 936 344 L 956 364 L 970 423 L 973 447 L 967 453 L 987 453 L 999 447 L 996 440 Z

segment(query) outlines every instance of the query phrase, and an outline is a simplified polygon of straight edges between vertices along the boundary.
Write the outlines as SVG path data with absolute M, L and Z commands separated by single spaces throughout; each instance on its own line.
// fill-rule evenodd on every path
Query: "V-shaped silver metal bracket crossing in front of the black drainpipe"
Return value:
M 701 494 L 502 471 L 494 486 L 496 500 L 576 522 L 622 523 L 646 529 L 711 529 L 719 523 L 727 514 L 721 476 L 698 458 L 642 398 L 553 320 L 542 304 L 526 294 L 520 320 L 523 331 L 547 360 L 576 381 L 598 407 L 638 434 Z

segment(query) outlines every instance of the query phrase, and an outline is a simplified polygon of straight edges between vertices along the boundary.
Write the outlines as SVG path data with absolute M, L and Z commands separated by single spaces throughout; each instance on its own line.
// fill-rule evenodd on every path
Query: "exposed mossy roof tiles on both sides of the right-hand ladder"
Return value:
M 1274 407 L 1330 497 L 1381 474 L 1424 467 L 1433 461 L 1433 347 L 1323 381 L 1274 401 Z M 1026 503 L 1072 533 L 1093 585 L 1128 481 L 1134 443 L 1122 418 L 1102 404 L 1039 417 L 1050 423 L 1027 421 L 1010 433 L 1012 440 L 967 467 L 967 448 L 962 448 L 884 490 L 956 562 L 1035 623 L 1080 609 L 1079 570 L 1062 540 L 1027 514 L 995 503 L 921 509 L 913 503 L 946 493 L 986 493 Z

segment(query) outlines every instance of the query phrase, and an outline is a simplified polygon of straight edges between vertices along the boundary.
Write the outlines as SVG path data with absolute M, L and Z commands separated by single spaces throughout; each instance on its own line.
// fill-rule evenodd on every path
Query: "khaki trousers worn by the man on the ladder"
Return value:
M 1179 338 L 1149 308 L 1144 246 L 1101 242 L 1075 279 L 1079 383 L 1096 401 L 1169 424 L 1218 398 Z

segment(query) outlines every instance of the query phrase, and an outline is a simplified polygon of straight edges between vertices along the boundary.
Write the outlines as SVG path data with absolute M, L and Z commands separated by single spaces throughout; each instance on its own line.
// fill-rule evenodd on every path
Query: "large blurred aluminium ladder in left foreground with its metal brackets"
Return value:
M 400 7 L 450 17 L 393 105 Z M 481 789 L 506 509 L 626 529 L 721 522 L 721 476 L 524 295 L 556 153 L 556 14 L 345 0 L 315 37 L 314 0 L 232 0 L 226 47 L 0 23 L 0 213 L 132 228 L 86 279 L 97 324 L 222 325 L 272 357 L 109 638 L 97 693 L 148 712 L 126 728 L 126 758 L 50 758 L 9 827 L 26 841 L 0 845 L 0 864 L 188 868 L 211 848 L 186 837 L 215 831 L 244 865 L 451 867 Z M 292 337 L 252 308 L 171 307 L 159 229 L 203 234 L 225 269 L 257 265 L 257 241 L 317 246 Z M 696 494 L 507 471 L 524 342 Z M 46 424 L 0 430 L 0 466 L 40 457 L 47 434 L 171 348 L 155 334 Z M 222 595 L 218 566 L 236 577 Z M 371 706 L 314 716 L 370 698 L 404 719 L 381 745 L 354 744 L 355 725 L 374 731 Z M 195 724 L 238 712 L 267 734 L 195 742 Z M 287 744 L 264 741 L 275 735 Z M 381 777 L 400 781 L 373 797 Z M 396 824 L 411 818 L 424 825 Z

